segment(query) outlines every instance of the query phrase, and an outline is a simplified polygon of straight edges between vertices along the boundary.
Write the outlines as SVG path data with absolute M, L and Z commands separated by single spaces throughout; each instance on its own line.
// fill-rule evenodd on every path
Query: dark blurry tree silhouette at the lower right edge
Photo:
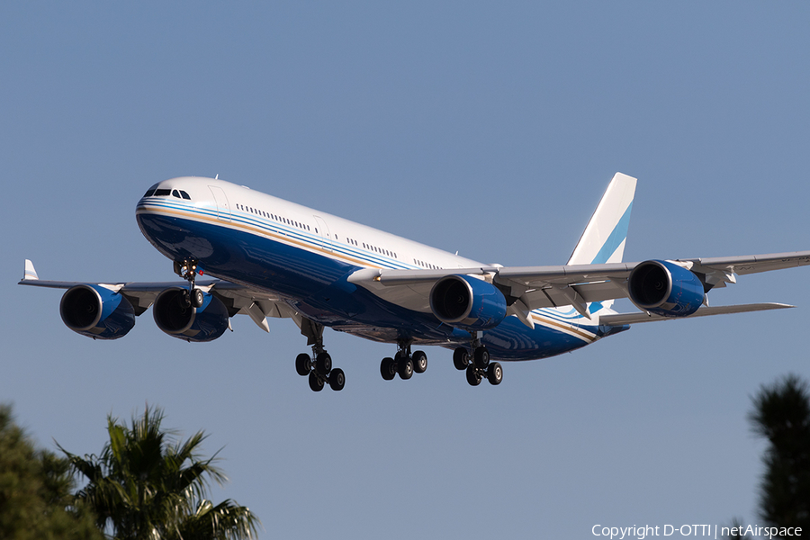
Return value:
M 810 391 L 795 374 L 762 386 L 749 415 L 770 445 L 760 493 L 761 518 L 772 527 L 810 531 Z

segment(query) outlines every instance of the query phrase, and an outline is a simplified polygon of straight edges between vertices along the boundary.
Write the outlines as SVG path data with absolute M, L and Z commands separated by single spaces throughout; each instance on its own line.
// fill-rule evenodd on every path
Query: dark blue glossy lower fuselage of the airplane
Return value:
M 140 210 L 140 209 L 139 209 Z M 296 311 L 325 326 L 377 341 L 413 339 L 415 344 L 468 346 L 468 332 L 447 326 L 432 313 L 410 311 L 386 302 L 347 277 L 360 266 L 328 251 L 295 247 L 274 238 L 210 221 L 139 211 L 144 236 L 163 255 L 199 261 L 212 275 L 284 298 Z M 483 332 L 493 359 L 530 360 L 589 345 L 624 328 L 575 324 L 575 317 L 541 310 L 543 323 L 528 328 L 516 317 Z M 581 319 L 582 320 L 582 319 Z

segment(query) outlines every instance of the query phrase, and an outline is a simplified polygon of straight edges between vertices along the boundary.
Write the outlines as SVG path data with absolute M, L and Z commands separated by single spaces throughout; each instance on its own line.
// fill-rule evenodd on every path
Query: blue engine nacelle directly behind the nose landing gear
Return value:
M 228 309 L 220 299 L 203 293 L 202 306 L 188 305 L 186 289 L 172 287 L 157 295 L 152 306 L 157 328 L 186 341 L 212 341 L 228 329 Z

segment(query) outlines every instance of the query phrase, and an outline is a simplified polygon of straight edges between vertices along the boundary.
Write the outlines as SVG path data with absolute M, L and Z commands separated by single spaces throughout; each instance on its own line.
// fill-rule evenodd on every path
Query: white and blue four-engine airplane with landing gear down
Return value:
M 323 330 L 396 345 L 380 373 L 408 380 L 428 367 L 414 347 L 453 350 L 473 386 L 503 380 L 500 362 L 561 355 L 630 328 L 781 303 L 709 306 L 707 293 L 736 275 L 810 264 L 810 251 L 748 257 L 622 261 L 636 179 L 617 173 L 568 263 L 482 264 L 326 212 L 219 179 L 179 177 L 148 188 L 139 228 L 184 279 L 166 283 L 40 280 L 30 260 L 19 284 L 67 289 L 59 313 L 68 329 L 117 339 L 152 307 L 157 328 L 206 342 L 246 314 L 269 332 L 267 317 L 292 319 L 311 354 L 295 359 L 312 391 L 340 391 Z M 213 280 L 200 279 L 211 276 Z M 640 311 L 618 313 L 628 298 Z

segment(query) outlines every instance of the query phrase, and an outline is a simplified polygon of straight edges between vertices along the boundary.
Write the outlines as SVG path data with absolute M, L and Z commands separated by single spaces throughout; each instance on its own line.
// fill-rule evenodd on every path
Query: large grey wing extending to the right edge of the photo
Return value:
M 675 259 L 671 262 L 691 270 L 711 287 L 725 287 L 727 283 L 736 283 L 735 275 L 810 265 L 810 251 L 743 257 Z M 410 309 L 429 311 L 430 289 L 439 279 L 446 275 L 477 275 L 495 284 L 501 292 L 511 297 L 508 299 L 513 302 L 509 313 L 521 318 L 520 311 L 525 316 L 527 311 L 569 305 L 584 314 L 587 311 L 587 303 L 626 298 L 627 278 L 639 264 L 641 263 L 571 266 L 493 265 L 452 270 L 365 269 L 351 275 L 348 281 L 364 286 L 392 302 L 407 304 L 406 307 Z M 704 312 L 701 315 L 720 312 L 715 311 L 712 308 L 712 312 Z M 644 320 L 651 320 L 644 313 L 642 315 L 645 317 Z M 699 315 L 696 313 L 692 316 Z M 638 321 L 640 320 L 636 322 Z

